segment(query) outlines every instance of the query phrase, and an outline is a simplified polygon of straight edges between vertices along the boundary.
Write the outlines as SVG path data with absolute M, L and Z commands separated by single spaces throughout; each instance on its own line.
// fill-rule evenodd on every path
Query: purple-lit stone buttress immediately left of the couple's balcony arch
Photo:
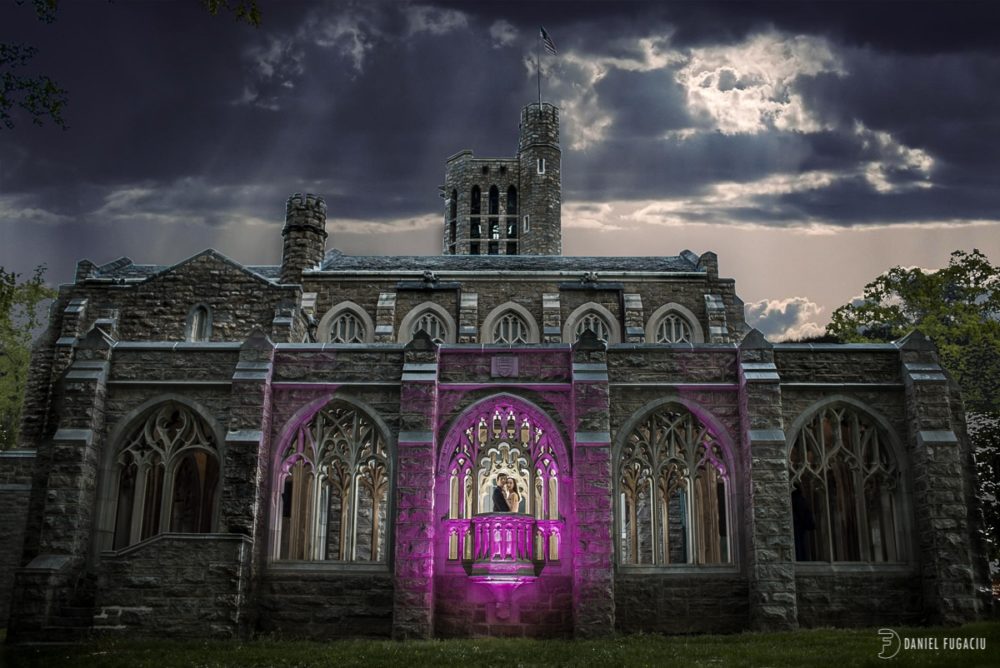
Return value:
M 417 332 L 403 354 L 396 442 L 396 572 L 392 635 L 434 634 L 434 430 L 437 346 Z

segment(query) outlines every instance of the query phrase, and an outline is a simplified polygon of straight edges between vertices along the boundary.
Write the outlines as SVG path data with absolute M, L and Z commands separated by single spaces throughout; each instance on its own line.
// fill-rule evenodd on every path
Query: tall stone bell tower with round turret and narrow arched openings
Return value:
M 562 220 L 559 110 L 521 110 L 517 156 L 448 158 L 442 252 L 445 255 L 559 255 Z

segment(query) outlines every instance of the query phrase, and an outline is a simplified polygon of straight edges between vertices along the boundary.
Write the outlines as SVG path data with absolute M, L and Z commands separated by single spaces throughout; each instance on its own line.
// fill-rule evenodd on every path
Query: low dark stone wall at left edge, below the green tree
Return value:
M 7 623 L 14 570 L 22 565 L 34 466 L 31 450 L 0 452 L 0 627 Z

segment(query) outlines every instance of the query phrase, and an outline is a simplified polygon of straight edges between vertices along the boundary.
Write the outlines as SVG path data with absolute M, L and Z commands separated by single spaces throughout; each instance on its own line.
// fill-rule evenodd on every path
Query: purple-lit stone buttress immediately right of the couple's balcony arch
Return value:
M 610 396 L 606 346 L 588 330 L 573 346 L 573 632 L 578 638 L 615 629 Z

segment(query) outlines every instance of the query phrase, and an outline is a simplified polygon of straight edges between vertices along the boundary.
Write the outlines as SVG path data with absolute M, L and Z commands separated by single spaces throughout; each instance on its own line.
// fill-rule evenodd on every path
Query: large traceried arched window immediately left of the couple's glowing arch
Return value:
M 272 558 L 386 562 L 392 477 L 370 416 L 327 404 L 295 431 L 277 469 Z

